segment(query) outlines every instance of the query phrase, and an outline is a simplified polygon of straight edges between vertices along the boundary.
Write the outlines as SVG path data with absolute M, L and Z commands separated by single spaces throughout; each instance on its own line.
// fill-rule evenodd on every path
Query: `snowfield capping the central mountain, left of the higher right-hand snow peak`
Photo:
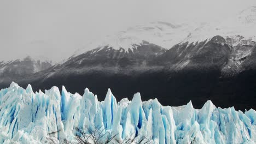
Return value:
M 127 28 L 126 31 L 93 41 L 85 46 L 86 49 L 75 52 L 74 56 L 92 49 L 100 50 L 104 46 L 112 47 L 115 50 L 122 48 L 125 52 L 129 52 L 129 49 L 133 51 L 138 45 L 143 45 L 143 41 L 171 48 L 171 46 L 180 43 L 187 37 L 190 29 L 193 29 L 191 27 L 194 27 L 194 25 L 186 23 L 172 24 L 161 21 L 151 22 L 147 25 L 138 25 Z

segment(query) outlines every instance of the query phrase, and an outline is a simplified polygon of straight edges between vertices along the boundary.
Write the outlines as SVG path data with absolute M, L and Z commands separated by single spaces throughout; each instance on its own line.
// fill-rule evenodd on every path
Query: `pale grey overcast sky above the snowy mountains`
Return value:
M 0 0 L 0 60 L 42 55 L 56 62 L 130 26 L 222 20 L 252 5 L 255 0 Z

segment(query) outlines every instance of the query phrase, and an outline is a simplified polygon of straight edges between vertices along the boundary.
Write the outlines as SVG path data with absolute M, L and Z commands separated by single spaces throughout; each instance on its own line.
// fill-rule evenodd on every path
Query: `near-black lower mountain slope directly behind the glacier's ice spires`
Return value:
M 244 111 L 256 108 L 255 73 L 255 70 L 247 70 L 235 76 L 221 77 L 218 70 L 184 70 L 179 73 L 156 71 L 132 76 L 109 75 L 101 71 L 54 77 L 31 84 L 33 91 L 49 89 L 52 86 L 61 89 L 64 85 L 69 92 L 78 92 L 81 95 L 85 87 L 88 87 L 97 94 L 99 100 L 104 100 L 107 88 L 110 88 L 118 101 L 126 97 L 132 99 L 133 94 L 140 92 L 142 100 L 158 98 L 162 105 L 179 106 L 191 100 L 196 109 L 201 109 L 207 100 L 212 100 L 216 106 L 234 106 L 235 109 Z M 22 87 L 26 85 L 27 83 L 21 83 Z

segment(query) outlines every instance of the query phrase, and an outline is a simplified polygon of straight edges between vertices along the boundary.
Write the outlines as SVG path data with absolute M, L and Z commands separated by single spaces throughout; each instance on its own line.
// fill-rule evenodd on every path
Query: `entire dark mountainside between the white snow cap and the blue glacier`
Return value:
M 212 100 L 220 107 L 255 109 L 255 48 L 253 41 L 219 35 L 177 44 L 170 50 L 146 41 L 130 52 L 105 46 L 18 82 L 23 87 L 31 83 L 34 91 L 65 85 L 81 95 L 88 87 L 99 100 L 111 88 L 118 100 L 141 92 L 143 100 L 158 98 L 163 105 L 184 105 L 192 100 L 195 108 L 201 108 Z

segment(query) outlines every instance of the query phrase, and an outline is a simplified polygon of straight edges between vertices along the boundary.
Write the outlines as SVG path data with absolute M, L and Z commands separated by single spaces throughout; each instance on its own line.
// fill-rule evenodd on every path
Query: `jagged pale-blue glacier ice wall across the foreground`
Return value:
M 210 100 L 202 109 L 194 109 L 191 101 L 178 107 L 142 101 L 140 93 L 117 102 L 110 89 L 104 101 L 88 88 L 83 97 L 64 86 L 61 92 L 52 87 L 34 93 L 31 85 L 24 89 L 14 82 L 0 91 L 0 143 L 74 141 L 78 127 L 100 127 L 119 140 L 134 134 L 153 143 L 255 143 L 255 119 L 253 109 L 222 109 Z

